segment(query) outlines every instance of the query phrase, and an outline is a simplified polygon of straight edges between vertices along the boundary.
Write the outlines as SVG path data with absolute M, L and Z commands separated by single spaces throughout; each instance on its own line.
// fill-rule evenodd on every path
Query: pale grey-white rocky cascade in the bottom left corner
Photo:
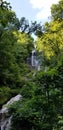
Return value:
M 10 130 L 12 115 L 10 117 L 8 115 L 8 106 L 20 99 L 22 99 L 22 96 L 18 94 L 2 106 L 0 110 L 0 130 Z

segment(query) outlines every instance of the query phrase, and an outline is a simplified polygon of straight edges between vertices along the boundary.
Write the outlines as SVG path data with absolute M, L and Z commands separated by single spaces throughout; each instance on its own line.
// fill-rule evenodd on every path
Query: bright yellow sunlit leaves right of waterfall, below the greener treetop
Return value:
M 37 49 L 42 50 L 43 55 L 50 59 L 50 57 L 58 56 L 62 52 L 62 22 L 52 21 L 49 27 L 45 26 L 45 28 L 45 33 L 37 40 Z

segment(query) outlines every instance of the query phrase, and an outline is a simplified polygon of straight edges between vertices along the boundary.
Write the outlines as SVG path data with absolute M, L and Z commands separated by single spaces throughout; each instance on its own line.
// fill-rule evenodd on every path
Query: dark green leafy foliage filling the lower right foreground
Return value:
M 58 115 L 62 116 L 63 101 L 58 77 L 59 73 L 55 69 L 40 71 L 32 83 L 27 82 L 23 86 L 21 92 L 24 100 L 10 107 L 13 113 L 12 128 L 15 128 L 15 124 L 15 130 L 57 130 L 60 127 Z

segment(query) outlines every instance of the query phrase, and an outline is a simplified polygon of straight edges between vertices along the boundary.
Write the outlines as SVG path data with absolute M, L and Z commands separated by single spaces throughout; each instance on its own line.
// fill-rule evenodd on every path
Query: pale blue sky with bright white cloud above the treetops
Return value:
M 25 17 L 29 21 L 46 22 L 51 16 L 50 7 L 59 0 L 6 0 L 10 2 L 17 17 Z

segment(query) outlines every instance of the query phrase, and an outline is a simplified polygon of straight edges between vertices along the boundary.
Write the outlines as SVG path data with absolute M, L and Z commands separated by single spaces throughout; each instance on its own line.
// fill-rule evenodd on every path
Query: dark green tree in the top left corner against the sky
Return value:
M 4 30 L 11 28 L 19 29 L 20 26 L 15 12 L 11 10 L 10 3 L 2 0 L 0 4 L 0 26 L 3 26 Z

